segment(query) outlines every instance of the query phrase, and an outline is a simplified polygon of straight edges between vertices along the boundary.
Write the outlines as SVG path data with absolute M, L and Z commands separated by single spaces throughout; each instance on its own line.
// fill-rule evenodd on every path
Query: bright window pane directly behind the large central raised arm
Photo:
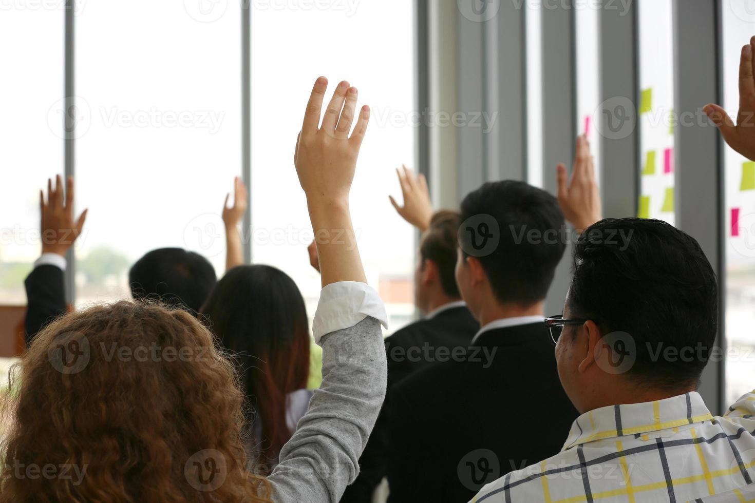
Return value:
M 353 184 L 353 222 L 368 281 L 380 291 L 396 330 L 414 315 L 414 229 L 388 200 L 389 194 L 400 198 L 395 168 L 414 160 L 422 119 L 414 104 L 413 5 L 347 4 L 283 9 L 252 3 L 252 258 L 296 278 L 314 314 L 320 280 L 307 259 L 313 234 L 294 145 L 315 79 L 328 77 L 326 100 L 348 80 L 359 89 L 359 105 L 372 110 Z

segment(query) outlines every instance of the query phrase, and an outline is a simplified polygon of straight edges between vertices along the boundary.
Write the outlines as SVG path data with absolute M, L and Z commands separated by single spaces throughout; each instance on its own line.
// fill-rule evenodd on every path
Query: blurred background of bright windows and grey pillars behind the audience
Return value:
M 311 317 L 319 275 L 291 159 L 325 75 L 373 111 L 351 204 L 391 331 L 415 317 L 418 238 L 388 200 L 400 202 L 394 169 L 424 173 L 436 208 L 487 180 L 553 191 L 586 133 L 606 216 L 664 219 L 715 265 L 721 351 L 702 390 L 733 402 L 755 386 L 755 163 L 701 109 L 736 115 L 752 35 L 751 0 L 4 0 L 0 349 L 14 351 L 39 189 L 58 173 L 89 209 L 72 304 L 128 298 L 128 268 L 158 247 L 202 253 L 222 275 L 220 210 L 242 176 L 247 259 L 291 275 Z M 567 256 L 548 314 L 568 275 Z

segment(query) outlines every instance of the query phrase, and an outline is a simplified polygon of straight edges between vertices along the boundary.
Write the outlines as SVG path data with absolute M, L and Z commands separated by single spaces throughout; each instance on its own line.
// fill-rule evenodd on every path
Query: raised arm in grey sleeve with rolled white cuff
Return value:
M 315 339 L 322 345 L 322 385 L 270 475 L 276 503 L 339 501 L 359 474 L 359 455 L 385 397 L 380 323 L 386 314 L 377 292 L 365 284 L 349 214 L 349 191 L 369 109 L 359 112 L 349 136 L 357 91 L 341 82 L 320 126 L 327 84 L 325 78 L 316 81 L 294 155 L 322 272 L 313 322 Z M 345 238 L 338 238 L 341 235 Z

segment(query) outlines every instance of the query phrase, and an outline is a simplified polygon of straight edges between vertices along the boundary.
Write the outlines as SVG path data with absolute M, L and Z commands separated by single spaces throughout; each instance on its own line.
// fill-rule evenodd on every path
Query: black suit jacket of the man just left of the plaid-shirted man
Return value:
M 485 483 L 559 452 L 578 416 L 541 323 L 482 333 L 464 362 L 389 390 L 386 409 L 393 503 L 470 501 Z

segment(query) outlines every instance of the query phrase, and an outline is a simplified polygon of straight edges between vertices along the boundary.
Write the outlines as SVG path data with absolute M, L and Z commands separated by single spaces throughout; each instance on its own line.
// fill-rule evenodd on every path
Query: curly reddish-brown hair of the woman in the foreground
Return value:
M 2 501 L 270 501 L 245 469 L 233 366 L 185 311 L 66 314 L 11 370 L 11 390 Z

